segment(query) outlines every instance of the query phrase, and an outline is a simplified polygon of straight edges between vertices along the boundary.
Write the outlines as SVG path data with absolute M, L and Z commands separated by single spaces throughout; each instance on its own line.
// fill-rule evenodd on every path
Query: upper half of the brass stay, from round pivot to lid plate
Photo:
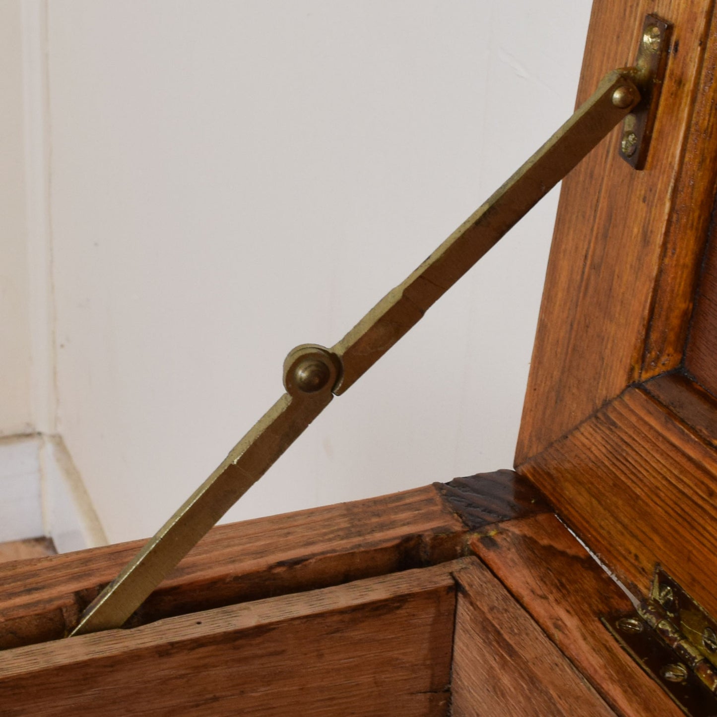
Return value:
M 639 100 L 634 78 L 632 69 L 606 75 L 594 95 L 500 189 L 332 348 L 344 366 L 335 394 L 375 364 L 629 113 Z

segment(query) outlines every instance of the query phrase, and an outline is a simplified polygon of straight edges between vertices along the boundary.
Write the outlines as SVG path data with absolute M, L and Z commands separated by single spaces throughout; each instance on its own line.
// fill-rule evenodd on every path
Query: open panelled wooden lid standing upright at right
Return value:
M 660 564 L 716 614 L 714 19 L 638 5 L 674 23 L 650 156 L 613 138 L 563 182 L 515 465 L 635 592 Z M 638 14 L 594 3 L 578 99 Z

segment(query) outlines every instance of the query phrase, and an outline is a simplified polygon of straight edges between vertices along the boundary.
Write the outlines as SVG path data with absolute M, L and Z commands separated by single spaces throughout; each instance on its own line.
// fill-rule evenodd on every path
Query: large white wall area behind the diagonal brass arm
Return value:
M 568 117 L 589 5 L 50 0 L 58 427 L 112 541 Z M 510 466 L 556 200 L 227 519 Z

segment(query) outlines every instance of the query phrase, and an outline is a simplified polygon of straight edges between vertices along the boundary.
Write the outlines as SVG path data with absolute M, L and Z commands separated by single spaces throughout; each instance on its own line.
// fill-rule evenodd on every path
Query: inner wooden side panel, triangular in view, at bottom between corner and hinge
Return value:
M 455 576 L 454 717 L 614 716 L 479 561 Z

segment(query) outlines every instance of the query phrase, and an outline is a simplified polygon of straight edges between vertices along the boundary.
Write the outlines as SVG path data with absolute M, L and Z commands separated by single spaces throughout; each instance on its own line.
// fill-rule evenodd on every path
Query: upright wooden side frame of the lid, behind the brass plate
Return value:
M 647 13 L 674 25 L 650 156 L 630 168 L 618 129 L 563 181 L 516 465 L 683 355 L 717 176 L 713 0 L 596 0 L 578 102 Z

